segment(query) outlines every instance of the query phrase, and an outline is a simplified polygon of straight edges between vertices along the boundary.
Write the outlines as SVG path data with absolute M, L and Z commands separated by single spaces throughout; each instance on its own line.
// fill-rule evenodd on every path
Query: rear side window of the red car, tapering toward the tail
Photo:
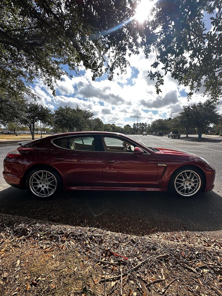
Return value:
M 71 150 L 96 151 L 94 136 L 70 136 L 55 139 L 56 146 Z

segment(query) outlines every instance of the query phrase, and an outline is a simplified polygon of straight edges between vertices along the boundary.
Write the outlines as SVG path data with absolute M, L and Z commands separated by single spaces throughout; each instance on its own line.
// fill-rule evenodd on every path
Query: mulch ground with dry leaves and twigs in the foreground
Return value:
M 0 295 L 219 295 L 222 238 L 136 237 L 0 215 Z

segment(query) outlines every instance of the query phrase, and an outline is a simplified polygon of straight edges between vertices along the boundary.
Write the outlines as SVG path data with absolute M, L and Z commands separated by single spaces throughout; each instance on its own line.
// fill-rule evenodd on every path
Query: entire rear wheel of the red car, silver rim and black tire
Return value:
M 59 192 L 62 184 L 58 173 L 46 168 L 32 170 L 26 179 L 26 186 L 33 196 L 49 199 Z

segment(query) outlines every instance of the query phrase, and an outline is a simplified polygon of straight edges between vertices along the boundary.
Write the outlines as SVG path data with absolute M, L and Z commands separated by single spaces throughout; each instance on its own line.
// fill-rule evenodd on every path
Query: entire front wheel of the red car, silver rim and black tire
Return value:
M 172 174 L 168 189 L 178 197 L 193 197 L 200 192 L 203 182 L 201 171 L 187 166 Z

